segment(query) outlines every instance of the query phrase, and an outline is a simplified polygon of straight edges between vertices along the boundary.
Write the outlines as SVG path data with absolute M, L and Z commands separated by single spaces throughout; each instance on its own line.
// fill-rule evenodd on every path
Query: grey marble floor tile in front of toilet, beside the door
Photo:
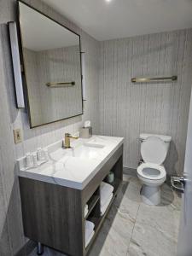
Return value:
M 140 204 L 127 255 L 176 255 L 181 200 L 166 184 L 162 197 L 160 206 Z

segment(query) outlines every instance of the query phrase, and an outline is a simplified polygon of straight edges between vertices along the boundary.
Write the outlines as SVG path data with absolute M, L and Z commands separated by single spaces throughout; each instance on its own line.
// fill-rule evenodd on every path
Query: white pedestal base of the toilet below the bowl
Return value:
M 149 206 L 157 206 L 160 204 L 160 186 L 150 187 L 143 185 L 141 190 L 143 203 Z

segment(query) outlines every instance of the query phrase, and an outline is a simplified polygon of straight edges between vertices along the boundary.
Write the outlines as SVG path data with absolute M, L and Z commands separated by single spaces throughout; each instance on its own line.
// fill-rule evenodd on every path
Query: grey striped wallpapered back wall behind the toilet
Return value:
M 133 77 L 165 75 L 178 80 L 131 83 Z M 101 43 L 101 133 L 125 137 L 124 166 L 137 168 L 139 134 L 151 132 L 172 136 L 167 172 L 183 172 L 191 81 L 192 29 Z

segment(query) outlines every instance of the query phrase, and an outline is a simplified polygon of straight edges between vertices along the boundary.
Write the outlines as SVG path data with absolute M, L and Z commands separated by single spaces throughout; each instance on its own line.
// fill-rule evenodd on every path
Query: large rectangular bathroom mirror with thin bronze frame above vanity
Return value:
M 31 128 L 83 113 L 80 36 L 19 2 Z

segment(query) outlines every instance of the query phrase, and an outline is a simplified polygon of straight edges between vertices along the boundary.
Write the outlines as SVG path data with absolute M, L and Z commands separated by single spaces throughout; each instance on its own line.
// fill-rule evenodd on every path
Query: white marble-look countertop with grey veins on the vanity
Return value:
M 90 139 L 72 140 L 71 146 L 73 148 L 55 148 L 54 152 L 49 150 L 49 161 L 47 163 L 28 170 L 19 168 L 19 176 L 73 189 L 84 189 L 123 142 L 124 138 L 122 137 L 106 136 L 92 136 Z M 92 144 L 98 145 L 98 148 L 91 148 Z M 84 148 L 84 145 L 88 147 L 85 148 L 85 153 L 81 149 Z

